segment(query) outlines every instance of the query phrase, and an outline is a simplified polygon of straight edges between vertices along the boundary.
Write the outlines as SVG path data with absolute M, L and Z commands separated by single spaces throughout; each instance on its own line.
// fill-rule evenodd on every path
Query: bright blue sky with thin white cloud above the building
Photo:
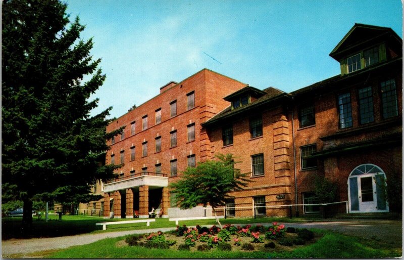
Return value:
M 285 92 L 334 76 L 339 64 L 328 54 L 355 23 L 391 27 L 402 37 L 399 0 L 66 2 L 107 75 L 91 97 L 100 99 L 92 114 L 113 106 L 111 117 L 203 68 Z

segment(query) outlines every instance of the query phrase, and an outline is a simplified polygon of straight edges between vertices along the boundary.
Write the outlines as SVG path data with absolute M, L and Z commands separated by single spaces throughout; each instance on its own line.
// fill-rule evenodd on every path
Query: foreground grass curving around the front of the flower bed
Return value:
M 211 249 L 207 252 L 190 252 L 170 249 L 150 249 L 139 246 L 117 246 L 125 237 L 107 238 L 88 245 L 74 246 L 47 254 L 48 258 L 378 258 L 399 257 L 401 250 L 379 246 L 374 248 L 372 241 L 319 231 L 322 237 L 314 244 L 293 251 L 223 252 Z

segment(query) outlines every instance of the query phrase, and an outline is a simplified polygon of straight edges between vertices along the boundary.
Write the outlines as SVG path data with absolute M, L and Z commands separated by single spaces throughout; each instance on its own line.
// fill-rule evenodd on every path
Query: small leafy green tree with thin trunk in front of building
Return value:
M 208 203 L 212 206 L 216 216 L 216 221 L 222 228 L 215 208 L 225 204 L 227 195 L 232 191 L 243 190 L 247 186 L 247 173 L 241 174 L 240 169 L 234 168 L 232 154 L 218 154 L 218 160 L 198 163 L 197 167 L 188 167 L 182 178 L 170 184 L 173 190 L 171 193 L 177 194 L 177 204 L 181 209 L 187 209 Z

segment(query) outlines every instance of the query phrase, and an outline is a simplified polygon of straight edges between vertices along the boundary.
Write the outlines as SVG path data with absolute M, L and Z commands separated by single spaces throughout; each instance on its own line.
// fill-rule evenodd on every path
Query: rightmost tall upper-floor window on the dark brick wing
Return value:
M 398 115 L 397 93 L 395 91 L 395 80 L 390 79 L 380 83 L 382 91 L 383 118 Z

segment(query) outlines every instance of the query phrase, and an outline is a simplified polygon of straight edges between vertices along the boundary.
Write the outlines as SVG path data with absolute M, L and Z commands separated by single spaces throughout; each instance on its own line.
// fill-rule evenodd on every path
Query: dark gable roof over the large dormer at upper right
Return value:
M 354 26 L 339 41 L 337 46 L 329 54 L 332 58 L 338 60 L 343 52 L 358 47 L 366 42 L 377 39 L 386 34 L 391 34 L 397 40 L 401 38 L 389 27 L 374 26 L 368 24 L 355 23 Z

